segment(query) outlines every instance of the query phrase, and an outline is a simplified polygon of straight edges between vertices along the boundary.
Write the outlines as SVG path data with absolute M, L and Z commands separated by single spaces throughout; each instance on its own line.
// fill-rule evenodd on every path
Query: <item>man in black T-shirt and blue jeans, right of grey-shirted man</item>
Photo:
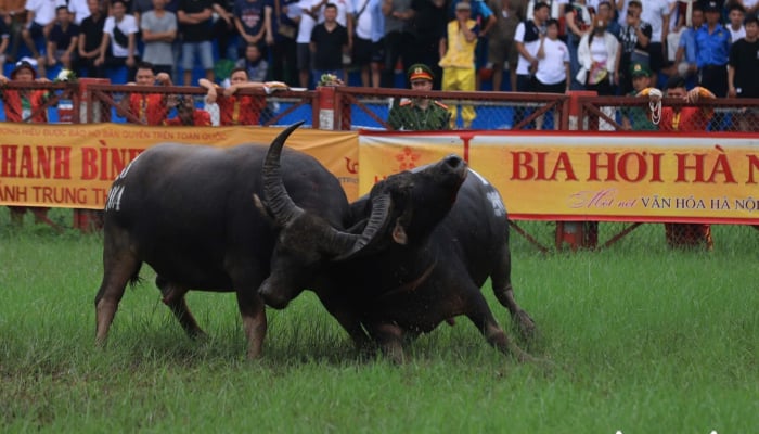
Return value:
M 211 0 L 180 0 L 177 22 L 182 34 L 183 84 L 190 86 L 196 61 L 207 80 L 214 81 L 214 48 L 211 44 Z

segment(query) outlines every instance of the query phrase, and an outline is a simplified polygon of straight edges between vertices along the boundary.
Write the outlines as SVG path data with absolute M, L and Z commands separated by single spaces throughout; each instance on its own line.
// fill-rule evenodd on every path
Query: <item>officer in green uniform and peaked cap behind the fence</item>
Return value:
M 433 90 L 435 77 L 427 65 L 411 65 L 408 77 L 412 90 Z M 450 118 L 451 114 L 445 104 L 426 97 L 414 97 L 394 105 L 387 123 L 395 130 L 441 130 L 449 128 Z

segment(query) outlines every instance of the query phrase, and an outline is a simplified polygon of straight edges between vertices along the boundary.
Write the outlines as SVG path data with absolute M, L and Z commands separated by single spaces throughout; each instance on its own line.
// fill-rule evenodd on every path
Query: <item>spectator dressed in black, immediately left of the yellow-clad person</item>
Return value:
M 446 0 L 411 0 L 414 11 L 412 34 L 415 36 L 413 52 L 408 64 L 423 64 L 433 72 L 433 89 L 440 89 L 442 68 L 440 62 L 440 38 L 446 35 L 449 21 L 449 10 Z M 378 15 L 384 27 L 384 15 Z M 384 33 L 384 28 L 378 31 Z M 381 37 L 382 38 L 382 37 Z M 382 63 L 380 64 L 382 67 Z M 408 74 L 407 74 L 408 78 Z

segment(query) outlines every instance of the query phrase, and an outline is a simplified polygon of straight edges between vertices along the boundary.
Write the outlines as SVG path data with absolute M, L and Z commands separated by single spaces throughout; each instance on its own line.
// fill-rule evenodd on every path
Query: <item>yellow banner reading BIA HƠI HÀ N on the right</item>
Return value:
M 759 224 L 759 138 L 362 132 L 359 193 L 455 153 L 513 219 Z

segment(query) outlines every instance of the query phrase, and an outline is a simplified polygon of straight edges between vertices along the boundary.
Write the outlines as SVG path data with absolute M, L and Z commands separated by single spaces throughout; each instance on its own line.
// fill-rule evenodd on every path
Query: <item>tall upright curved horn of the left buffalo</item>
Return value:
M 284 131 L 271 142 L 269 151 L 263 161 L 263 196 L 266 197 L 265 205 L 269 214 L 274 217 L 279 226 L 285 226 L 293 218 L 297 217 L 304 210 L 298 207 L 293 199 L 287 194 L 287 190 L 282 181 L 282 168 L 280 166 L 280 156 L 282 148 L 290 135 L 303 125 L 303 120 L 287 127 Z

